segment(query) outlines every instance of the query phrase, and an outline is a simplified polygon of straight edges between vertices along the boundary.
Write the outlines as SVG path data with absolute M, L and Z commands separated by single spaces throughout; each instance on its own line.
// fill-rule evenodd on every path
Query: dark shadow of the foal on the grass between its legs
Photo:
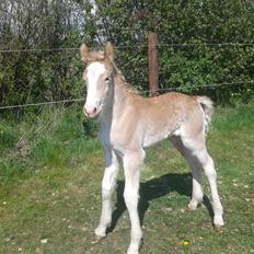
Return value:
M 107 230 L 107 233 L 112 232 L 118 219 L 123 215 L 123 212 L 126 210 L 125 200 L 123 197 L 124 193 L 124 181 L 118 181 L 117 183 L 117 200 L 116 200 L 116 208 L 113 211 L 112 216 L 112 224 Z M 184 195 L 190 198 L 192 196 L 192 174 L 185 173 L 185 174 L 177 174 L 177 173 L 169 173 L 164 174 L 158 178 L 152 178 L 146 183 L 140 183 L 140 199 L 139 199 L 139 218 L 141 224 L 143 223 L 143 218 L 146 215 L 146 211 L 148 210 L 152 199 L 162 197 L 168 195 L 171 192 L 176 192 L 180 195 Z M 213 211 L 210 204 L 210 200 L 207 196 L 204 196 L 204 205 L 206 206 L 209 216 L 212 220 Z

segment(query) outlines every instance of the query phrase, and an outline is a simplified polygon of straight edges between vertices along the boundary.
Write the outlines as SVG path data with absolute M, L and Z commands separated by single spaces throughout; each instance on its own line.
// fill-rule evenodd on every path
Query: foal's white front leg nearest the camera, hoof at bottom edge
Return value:
M 140 178 L 140 164 L 145 158 L 145 152 L 138 151 L 137 153 L 126 154 L 124 157 L 124 171 L 125 171 L 125 204 L 129 212 L 131 232 L 130 245 L 128 254 L 138 254 L 142 239 L 142 231 L 138 215 L 138 199 L 139 199 L 139 178 Z

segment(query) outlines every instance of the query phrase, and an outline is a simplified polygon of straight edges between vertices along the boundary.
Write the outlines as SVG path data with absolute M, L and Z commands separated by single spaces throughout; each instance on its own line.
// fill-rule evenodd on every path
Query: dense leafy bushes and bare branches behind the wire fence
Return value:
M 78 48 L 82 42 L 101 46 L 111 41 L 119 47 L 116 62 L 127 81 L 147 91 L 146 45 L 152 31 L 162 45 L 160 88 L 207 94 L 220 104 L 249 102 L 254 96 L 254 84 L 241 83 L 254 80 L 251 1 L 99 0 L 94 5 L 90 1 L 3 0 L 0 8 L 7 10 L 1 16 L 1 49 Z M 231 45 L 238 43 L 252 45 Z M 83 96 L 78 50 L 0 53 L 0 65 L 2 105 Z

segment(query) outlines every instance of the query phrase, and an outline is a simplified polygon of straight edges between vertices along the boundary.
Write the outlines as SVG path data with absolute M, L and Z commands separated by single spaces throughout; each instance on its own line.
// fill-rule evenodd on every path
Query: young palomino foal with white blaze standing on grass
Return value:
M 215 227 L 222 227 L 222 206 L 217 190 L 216 170 L 206 148 L 206 130 L 212 103 L 205 96 L 168 93 L 158 97 L 141 97 L 130 92 L 116 68 L 113 47 L 89 51 L 83 44 L 81 58 L 86 64 L 83 79 L 88 85 L 84 114 L 97 118 L 100 141 L 105 150 L 105 173 L 102 181 L 102 213 L 97 238 L 106 235 L 112 221 L 111 196 L 122 160 L 125 173 L 124 198 L 131 222 L 128 254 L 138 254 L 142 239 L 138 215 L 140 165 L 143 148 L 169 139 L 187 160 L 193 173 L 193 193 L 188 204 L 195 210 L 203 201 L 200 173 L 208 178 Z

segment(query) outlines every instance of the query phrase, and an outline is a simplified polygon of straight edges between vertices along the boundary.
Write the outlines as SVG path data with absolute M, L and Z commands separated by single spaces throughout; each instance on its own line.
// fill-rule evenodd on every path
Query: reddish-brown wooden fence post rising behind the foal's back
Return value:
M 157 33 L 148 33 L 149 94 L 158 95 L 158 38 Z

